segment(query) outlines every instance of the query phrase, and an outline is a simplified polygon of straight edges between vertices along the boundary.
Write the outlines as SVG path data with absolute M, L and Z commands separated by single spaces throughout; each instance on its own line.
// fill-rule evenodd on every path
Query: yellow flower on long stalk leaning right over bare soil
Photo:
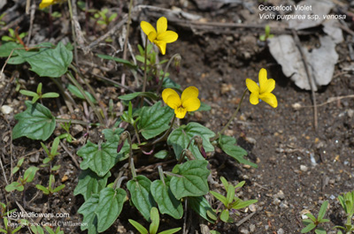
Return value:
M 271 92 L 275 88 L 274 79 L 266 79 L 266 69 L 262 68 L 258 74 L 259 86 L 252 79 L 246 79 L 246 86 L 250 90 L 250 103 L 257 105 L 259 99 L 276 108 L 278 101 Z

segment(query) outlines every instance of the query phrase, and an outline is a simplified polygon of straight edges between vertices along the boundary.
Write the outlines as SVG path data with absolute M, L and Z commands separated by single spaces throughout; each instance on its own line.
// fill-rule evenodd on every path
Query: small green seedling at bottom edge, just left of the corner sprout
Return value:
M 308 217 L 308 219 L 303 220 L 305 227 L 303 230 L 301 230 L 301 233 L 307 233 L 311 230 L 314 230 L 316 234 L 326 234 L 327 231 L 322 227 L 319 227 L 319 224 L 329 222 L 328 219 L 323 218 L 326 215 L 327 207 L 328 207 L 328 201 L 325 200 L 322 203 L 321 207 L 319 208 L 319 215 L 317 218 L 311 213 L 305 214 Z

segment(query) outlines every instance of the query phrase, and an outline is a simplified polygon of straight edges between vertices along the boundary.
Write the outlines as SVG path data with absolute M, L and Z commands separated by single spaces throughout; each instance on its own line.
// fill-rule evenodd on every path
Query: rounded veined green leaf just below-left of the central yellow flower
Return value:
M 149 140 L 165 132 L 170 127 L 169 124 L 173 116 L 171 108 L 162 107 L 161 102 L 157 102 L 152 107 L 142 108 L 138 128 L 142 132 L 142 136 Z

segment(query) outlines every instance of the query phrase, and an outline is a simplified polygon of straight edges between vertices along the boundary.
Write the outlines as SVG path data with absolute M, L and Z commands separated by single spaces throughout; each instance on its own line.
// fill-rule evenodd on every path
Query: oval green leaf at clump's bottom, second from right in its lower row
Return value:
M 157 179 L 151 183 L 150 190 L 158 203 L 158 209 L 161 214 L 171 215 L 174 219 L 181 219 L 183 215 L 181 200 L 177 200 L 173 196 L 171 189 L 167 185 Z

